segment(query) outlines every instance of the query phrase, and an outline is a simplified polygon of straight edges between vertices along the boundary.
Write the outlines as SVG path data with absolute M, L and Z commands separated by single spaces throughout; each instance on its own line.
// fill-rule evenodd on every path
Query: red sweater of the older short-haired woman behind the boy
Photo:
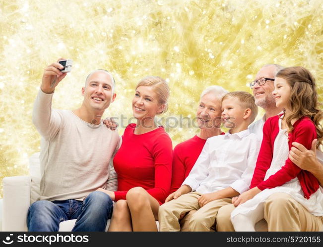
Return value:
M 222 132 L 221 135 L 224 135 Z M 201 153 L 206 139 L 198 136 L 178 144 L 173 151 L 173 172 L 170 193 L 181 187 L 184 180 L 189 176 L 199 154 Z

